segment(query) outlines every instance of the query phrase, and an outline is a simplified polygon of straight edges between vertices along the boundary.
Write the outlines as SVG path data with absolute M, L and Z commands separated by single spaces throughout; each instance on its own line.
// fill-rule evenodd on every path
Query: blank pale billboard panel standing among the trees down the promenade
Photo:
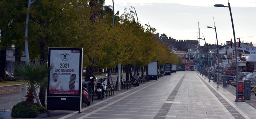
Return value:
M 158 66 L 157 61 L 152 61 L 151 63 L 148 64 L 147 75 L 150 76 L 150 80 L 157 80 L 157 66 Z

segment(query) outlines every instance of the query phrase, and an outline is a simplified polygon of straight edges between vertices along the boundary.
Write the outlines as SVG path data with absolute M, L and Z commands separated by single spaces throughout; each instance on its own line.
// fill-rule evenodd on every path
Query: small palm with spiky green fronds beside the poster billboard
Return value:
M 28 93 L 26 95 L 26 104 L 34 104 L 35 89 L 40 85 L 45 83 L 46 77 L 48 73 L 52 69 L 53 65 L 47 67 L 47 63 L 43 62 L 41 64 L 37 63 L 25 63 L 25 62 L 15 62 L 13 63 L 13 67 L 17 70 L 15 72 L 15 77 L 20 78 L 25 83 L 28 84 Z M 37 101 L 38 104 L 41 105 L 40 101 Z

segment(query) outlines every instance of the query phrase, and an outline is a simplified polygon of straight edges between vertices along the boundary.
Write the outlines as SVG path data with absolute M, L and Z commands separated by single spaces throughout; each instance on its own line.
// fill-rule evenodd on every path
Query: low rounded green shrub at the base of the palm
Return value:
M 39 104 L 26 105 L 25 101 L 22 101 L 12 108 L 12 118 L 34 118 L 38 113 L 46 112 L 46 107 L 42 107 Z

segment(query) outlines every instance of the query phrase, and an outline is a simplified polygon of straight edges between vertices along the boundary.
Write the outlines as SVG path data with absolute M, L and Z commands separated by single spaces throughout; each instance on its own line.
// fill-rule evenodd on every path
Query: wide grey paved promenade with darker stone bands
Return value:
M 256 109 L 195 71 L 178 71 L 48 119 L 256 119 Z M 65 113 L 64 113 L 65 112 Z M 53 113 L 54 114 L 54 113 Z

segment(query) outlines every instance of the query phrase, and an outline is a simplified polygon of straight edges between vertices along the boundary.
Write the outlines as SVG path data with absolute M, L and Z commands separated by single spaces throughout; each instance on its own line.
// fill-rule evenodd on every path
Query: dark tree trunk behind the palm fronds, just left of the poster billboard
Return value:
M 41 49 L 41 55 L 40 55 L 40 64 L 45 62 L 46 59 L 46 41 L 39 42 L 40 49 Z M 39 100 L 42 104 L 42 106 L 45 106 L 45 98 L 46 96 L 46 85 L 40 84 L 40 89 L 39 89 Z

